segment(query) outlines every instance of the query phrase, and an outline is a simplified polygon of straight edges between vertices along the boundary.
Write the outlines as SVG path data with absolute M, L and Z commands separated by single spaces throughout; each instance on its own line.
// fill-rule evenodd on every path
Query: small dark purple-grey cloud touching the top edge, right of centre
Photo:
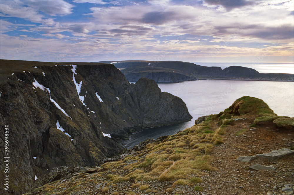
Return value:
M 243 6 L 253 5 L 252 1 L 247 0 L 204 0 L 209 5 L 223 6 L 227 11 Z

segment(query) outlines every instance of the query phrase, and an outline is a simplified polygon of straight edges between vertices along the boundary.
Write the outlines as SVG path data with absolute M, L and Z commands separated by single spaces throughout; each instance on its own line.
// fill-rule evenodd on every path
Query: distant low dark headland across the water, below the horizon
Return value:
M 294 74 L 259 73 L 255 69 L 230 66 L 206 67 L 180 61 L 105 61 L 121 69 L 129 81 L 148 77 L 158 82 L 182 82 L 198 79 L 228 79 L 228 80 L 262 80 L 262 81 L 294 81 Z

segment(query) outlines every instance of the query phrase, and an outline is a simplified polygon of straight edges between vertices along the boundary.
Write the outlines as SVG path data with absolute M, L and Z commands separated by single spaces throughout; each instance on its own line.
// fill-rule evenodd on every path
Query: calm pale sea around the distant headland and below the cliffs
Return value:
M 203 66 L 218 66 L 222 69 L 237 65 L 256 69 L 260 73 L 294 74 L 294 63 L 208 63 L 193 62 Z M 255 67 L 253 67 L 255 66 Z M 173 135 L 194 125 L 198 117 L 218 114 L 242 96 L 262 99 L 278 116 L 294 117 L 294 82 L 276 81 L 236 81 L 236 80 L 199 80 L 181 83 L 158 83 L 161 91 L 166 91 L 183 99 L 191 121 L 135 132 L 121 145 L 132 148 L 143 140 L 157 139 L 163 135 Z

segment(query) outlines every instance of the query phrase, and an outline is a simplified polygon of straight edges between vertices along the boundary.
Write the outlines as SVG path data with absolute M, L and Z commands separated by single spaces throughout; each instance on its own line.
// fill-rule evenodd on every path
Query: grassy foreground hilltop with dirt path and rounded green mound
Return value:
M 294 149 L 294 118 L 277 116 L 261 99 L 244 96 L 219 114 L 176 135 L 146 140 L 96 167 L 94 173 L 40 186 L 30 194 L 266 194 L 293 187 L 290 157 L 236 162 L 239 156 Z M 254 171 L 249 165 L 273 165 Z M 281 177 L 284 176 L 284 177 Z M 282 186 L 280 186 L 282 184 Z M 275 186 L 275 187 L 274 187 Z M 277 187 L 280 186 L 280 187 Z

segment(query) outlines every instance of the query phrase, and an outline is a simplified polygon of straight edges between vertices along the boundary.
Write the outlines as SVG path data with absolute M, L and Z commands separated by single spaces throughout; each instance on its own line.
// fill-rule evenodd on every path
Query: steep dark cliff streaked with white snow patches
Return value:
M 12 194 L 30 190 L 53 167 L 96 165 L 117 154 L 113 137 L 191 118 L 180 98 L 149 79 L 129 84 L 113 65 L 1 60 L 0 126 L 9 126 L 9 153 L 0 154 L 10 157 Z

